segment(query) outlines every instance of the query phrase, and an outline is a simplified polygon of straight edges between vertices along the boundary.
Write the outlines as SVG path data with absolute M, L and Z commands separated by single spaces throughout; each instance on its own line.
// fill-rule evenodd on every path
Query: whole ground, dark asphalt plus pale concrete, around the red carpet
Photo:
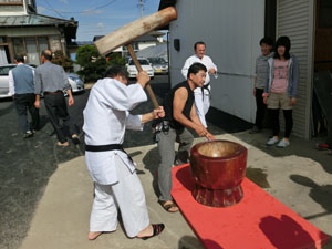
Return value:
M 159 102 L 168 91 L 166 79 L 156 76 L 152 82 Z M 69 108 L 79 129 L 87 96 L 89 90 L 75 95 L 75 104 Z M 152 103 L 146 102 L 134 113 L 152 108 Z M 41 117 L 42 128 L 34 137 L 23 139 L 18 133 L 13 103 L 0 101 L 1 249 L 203 248 L 181 214 L 167 214 L 157 203 L 155 177 L 159 156 L 149 125 L 141 133 L 127 132 L 124 147 L 137 163 L 151 220 L 165 222 L 165 231 L 142 241 L 128 239 L 120 226 L 116 232 L 89 241 L 93 184 L 86 172 L 83 147 L 73 143 L 68 148 L 58 147 L 55 136 L 50 136 L 53 128 L 44 106 Z M 217 138 L 235 141 L 248 148 L 249 179 L 332 235 L 332 157 L 314 149 L 314 144 L 323 138 L 292 137 L 291 145 L 280 149 L 264 145 L 268 129 L 251 135 L 248 133 L 251 124 L 215 108 L 209 111 L 207 120 Z M 196 138 L 195 143 L 200 141 Z M 332 248 L 331 243 L 325 248 Z

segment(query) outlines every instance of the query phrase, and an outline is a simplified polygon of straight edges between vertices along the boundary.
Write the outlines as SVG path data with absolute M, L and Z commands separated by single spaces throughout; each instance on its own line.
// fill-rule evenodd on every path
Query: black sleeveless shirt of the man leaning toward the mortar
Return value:
M 174 120 L 173 117 L 173 100 L 174 100 L 174 93 L 180 89 L 180 87 L 185 87 L 188 91 L 188 98 L 186 101 L 185 107 L 183 110 L 183 114 L 190 120 L 190 111 L 195 101 L 195 96 L 194 96 L 194 91 L 190 89 L 189 84 L 187 81 L 184 81 L 179 84 L 177 84 L 176 86 L 174 86 L 170 92 L 166 95 L 163 106 L 165 110 L 165 121 L 169 121 L 169 125 L 170 127 L 175 128 L 175 129 L 180 129 L 184 127 L 184 125 L 181 125 L 180 123 L 178 123 L 176 120 Z

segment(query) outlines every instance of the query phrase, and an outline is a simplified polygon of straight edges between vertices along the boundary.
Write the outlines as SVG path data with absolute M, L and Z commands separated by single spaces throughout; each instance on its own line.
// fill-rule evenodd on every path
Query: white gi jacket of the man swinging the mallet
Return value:
M 114 79 L 98 80 L 90 92 L 83 111 L 85 144 L 122 144 L 125 129 L 143 129 L 142 115 L 131 115 L 147 96 L 139 84 L 125 85 Z M 111 185 L 117 181 L 115 156 L 120 156 L 131 172 L 135 166 L 122 151 L 85 152 L 85 162 L 93 181 Z

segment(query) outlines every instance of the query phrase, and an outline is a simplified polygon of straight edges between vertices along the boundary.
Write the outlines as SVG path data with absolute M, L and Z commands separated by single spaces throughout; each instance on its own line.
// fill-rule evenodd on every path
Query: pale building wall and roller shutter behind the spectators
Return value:
M 174 6 L 178 19 L 169 23 L 170 82 L 183 80 L 180 69 L 204 41 L 218 65 L 212 80 L 211 105 L 253 123 L 255 60 L 259 41 L 288 35 L 300 63 L 299 96 L 293 110 L 293 134 L 310 138 L 313 75 L 332 71 L 332 2 L 329 0 L 162 0 L 159 9 Z M 283 120 L 283 118 L 281 118 Z

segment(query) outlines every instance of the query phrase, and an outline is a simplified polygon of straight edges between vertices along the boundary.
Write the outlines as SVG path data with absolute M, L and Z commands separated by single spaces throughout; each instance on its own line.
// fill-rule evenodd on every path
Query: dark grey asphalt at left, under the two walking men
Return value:
M 80 127 L 86 97 L 75 97 L 76 105 L 69 108 Z M 72 143 L 68 148 L 55 145 L 44 105 L 40 110 L 41 127 L 31 138 L 24 139 L 19 133 L 11 100 L 1 101 L 0 116 L 0 248 L 15 249 L 27 236 L 38 201 L 58 165 L 81 156 L 82 151 Z

